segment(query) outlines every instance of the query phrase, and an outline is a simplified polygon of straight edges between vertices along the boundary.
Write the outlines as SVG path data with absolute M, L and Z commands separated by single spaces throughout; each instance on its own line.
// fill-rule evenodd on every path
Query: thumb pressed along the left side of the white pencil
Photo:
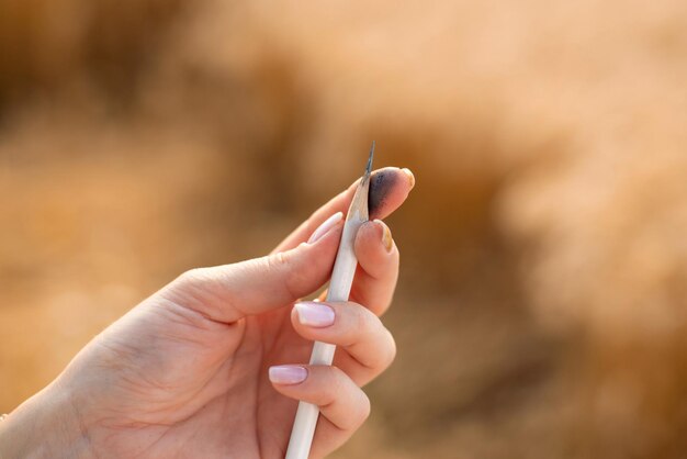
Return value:
M 328 280 L 342 228 L 339 212 L 313 233 L 314 242 L 262 258 L 192 269 L 161 294 L 223 323 L 284 306 Z

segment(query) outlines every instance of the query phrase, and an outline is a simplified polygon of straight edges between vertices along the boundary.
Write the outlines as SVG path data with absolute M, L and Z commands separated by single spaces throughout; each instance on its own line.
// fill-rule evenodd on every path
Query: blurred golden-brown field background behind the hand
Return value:
M 0 412 L 376 163 L 399 354 L 336 458 L 684 458 L 687 2 L 0 0 Z

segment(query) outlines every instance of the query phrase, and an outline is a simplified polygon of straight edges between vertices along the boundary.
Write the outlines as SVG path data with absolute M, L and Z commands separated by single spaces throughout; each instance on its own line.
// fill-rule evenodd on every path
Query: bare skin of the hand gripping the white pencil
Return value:
M 375 197 L 375 219 L 414 184 L 401 169 L 382 172 L 393 184 Z M 282 458 L 299 400 L 322 411 L 311 457 L 342 445 L 370 412 L 360 388 L 395 356 L 379 318 L 398 275 L 388 227 L 375 221 L 359 231 L 350 302 L 328 304 L 333 324 L 304 325 L 294 302 L 327 281 L 344 222 L 307 240 L 348 210 L 356 184 L 269 256 L 188 271 L 133 307 L 0 423 L 0 457 Z M 315 339 L 339 346 L 333 367 L 299 363 Z M 271 366 L 289 363 L 307 378 L 269 379 Z

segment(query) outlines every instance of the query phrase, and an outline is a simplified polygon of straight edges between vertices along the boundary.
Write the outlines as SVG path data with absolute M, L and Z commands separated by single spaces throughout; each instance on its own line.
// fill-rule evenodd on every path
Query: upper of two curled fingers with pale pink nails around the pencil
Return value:
M 359 385 L 386 370 L 396 356 L 392 334 L 374 313 L 357 303 L 296 303 L 291 322 L 302 337 L 341 347 L 335 365 Z

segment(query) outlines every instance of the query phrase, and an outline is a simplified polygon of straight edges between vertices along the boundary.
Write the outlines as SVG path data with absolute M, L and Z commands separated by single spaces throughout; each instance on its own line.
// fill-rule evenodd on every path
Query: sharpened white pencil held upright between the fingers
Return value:
M 368 193 L 370 190 L 370 172 L 372 171 L 373 156 L 374 142 L 372 142 L 372 148 L 370 148 L 365 173 L 360 179 L 351 205 L 348 209 L 341 242 L 339 243 L 339 251 L 331 271 L 327 301 L 348 301 L 348 295 L 351 291 L 356 267 L 358 266 L 353 244 L 360 225 L 369 220 Z M 335 345 L 315 342 L 313 354 L 311 355 L 311 365 L 331 365 L 335 350 Z M 305 402 L 299 403 L 285 459 L 307 459 L 318 416 L 319 408 L 316 405 Z

